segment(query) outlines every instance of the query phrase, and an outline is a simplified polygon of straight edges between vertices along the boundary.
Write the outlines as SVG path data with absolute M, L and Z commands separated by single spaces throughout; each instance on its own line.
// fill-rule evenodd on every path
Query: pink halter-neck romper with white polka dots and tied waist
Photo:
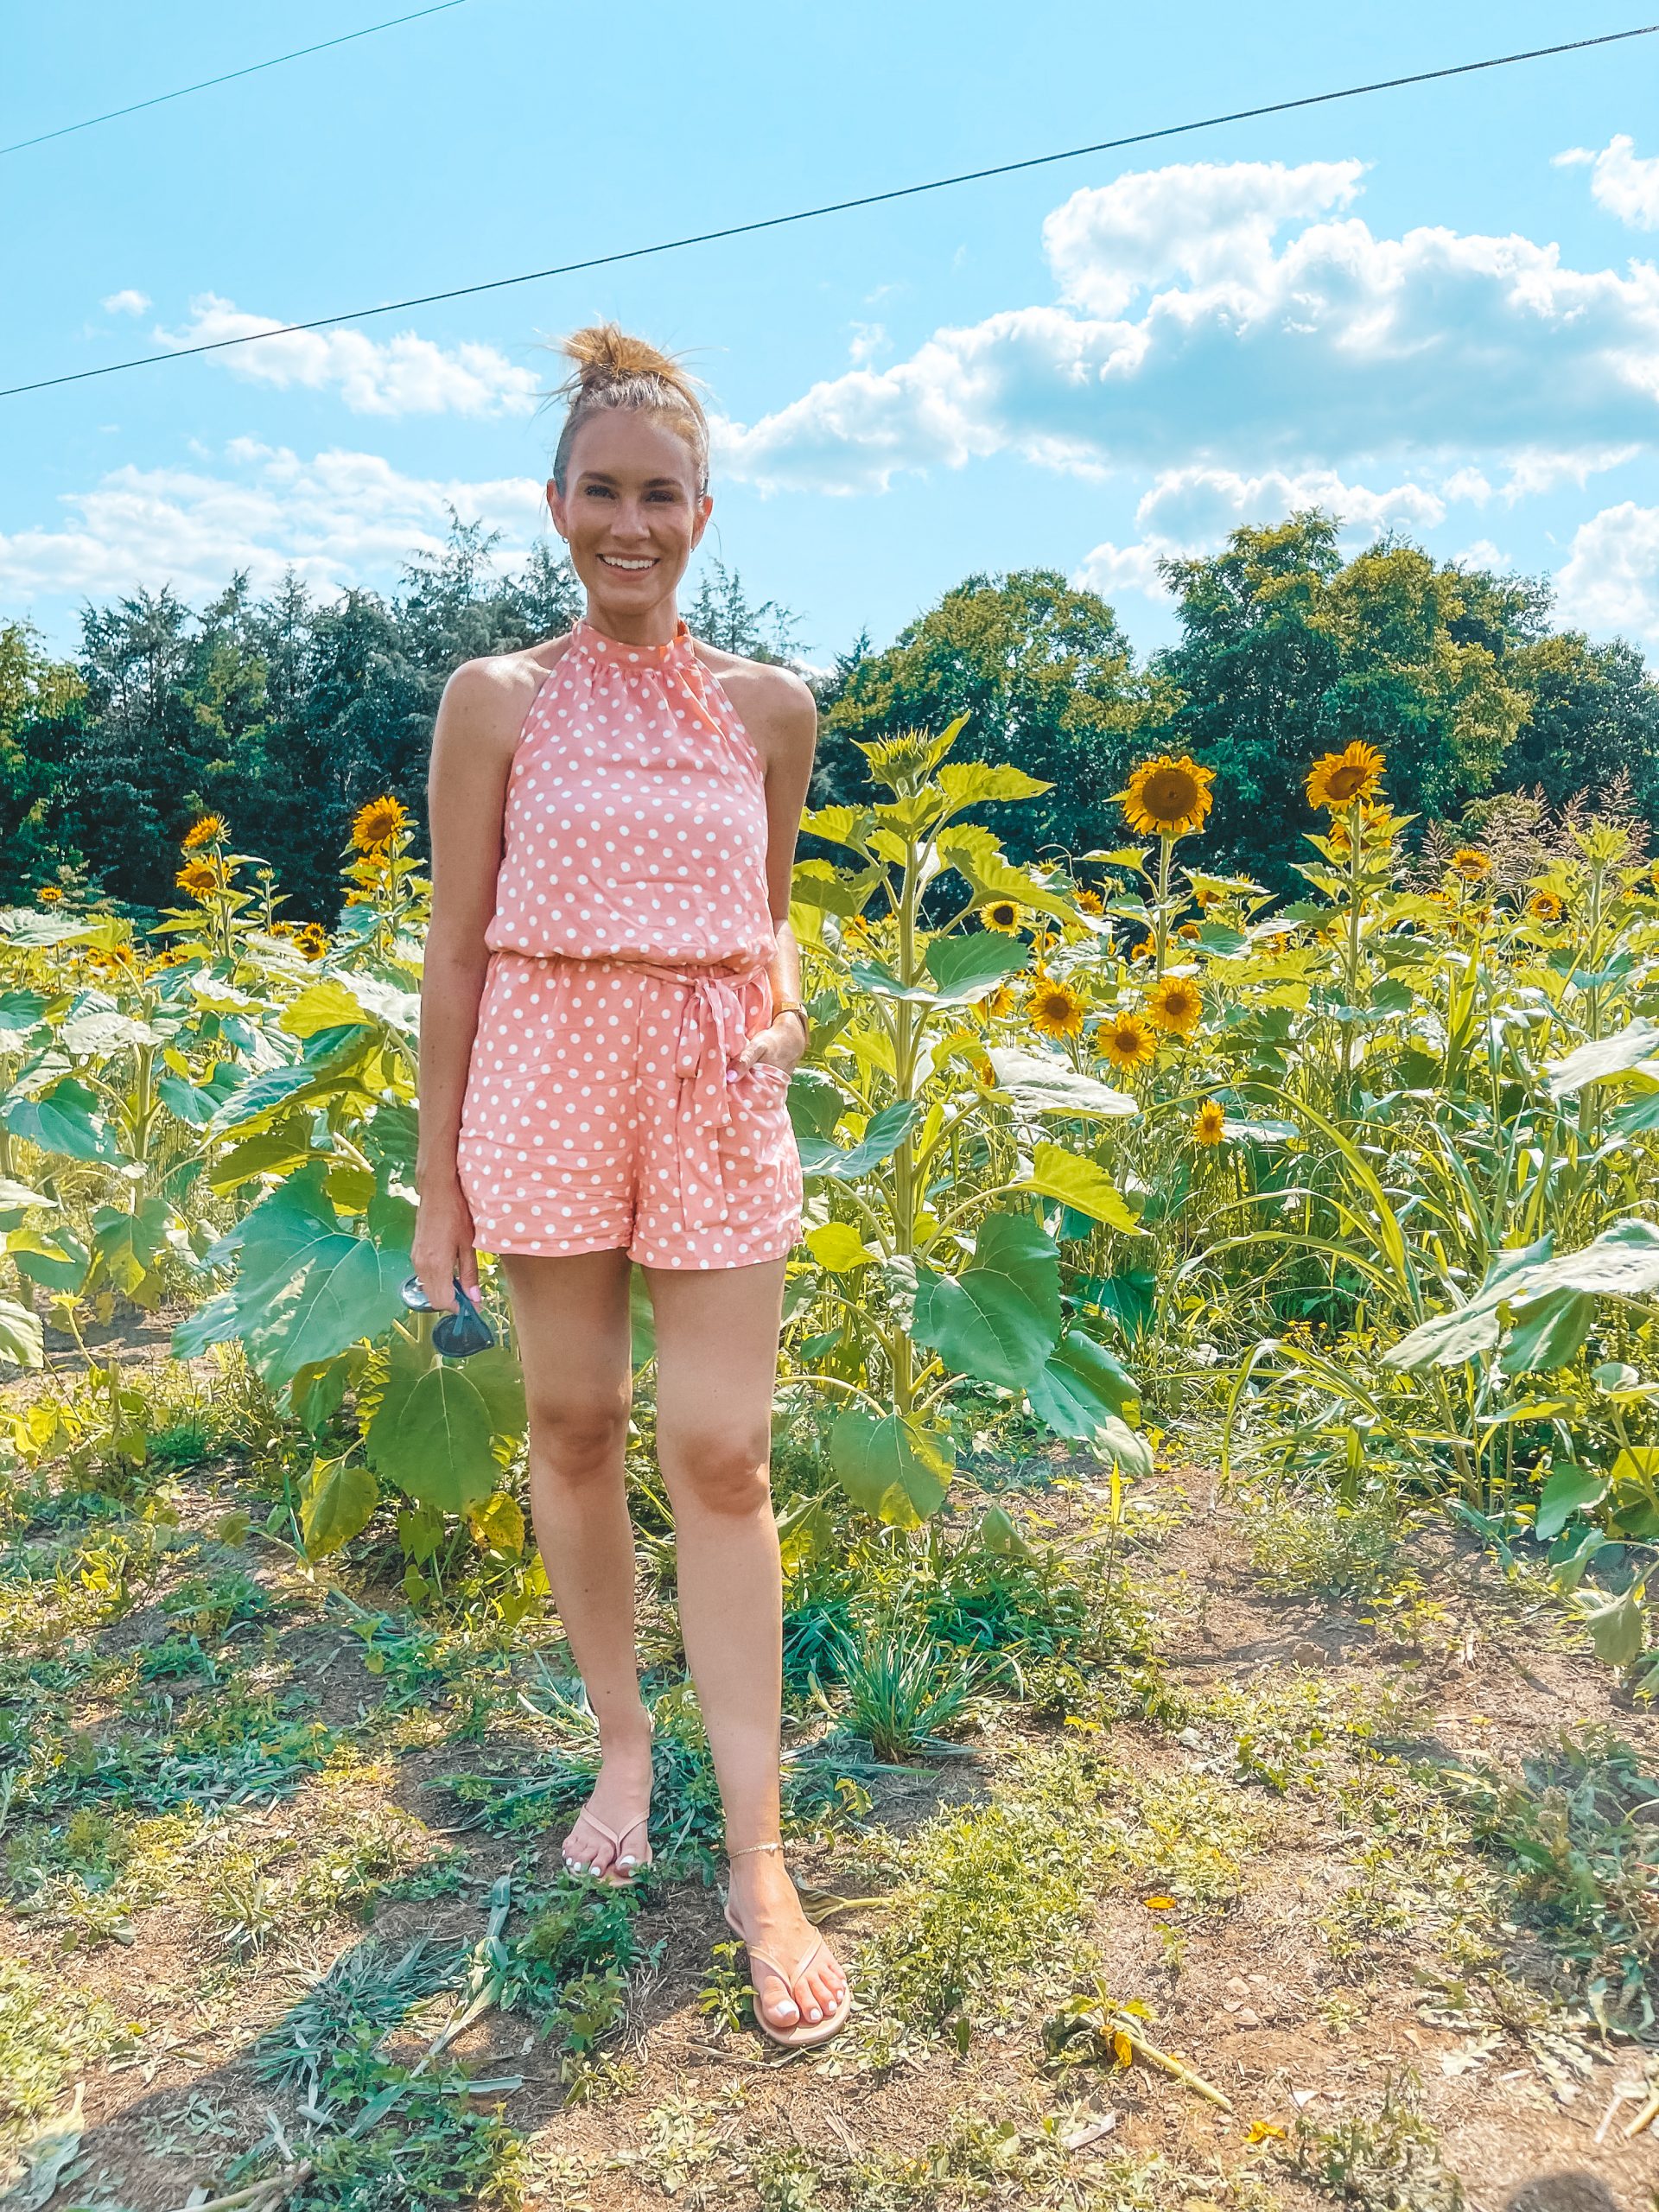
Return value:
M 460 1121 L 487 1252 L 743 1267 L 801 1243 L 772 1018 L 765 770 L 690 630 L 577 622 L 507 785 Z

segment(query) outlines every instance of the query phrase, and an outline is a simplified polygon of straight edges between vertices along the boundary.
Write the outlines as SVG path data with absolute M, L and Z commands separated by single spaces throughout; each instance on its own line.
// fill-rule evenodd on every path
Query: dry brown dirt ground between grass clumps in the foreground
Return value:
M 217 1517 L 237 1502 L 217 1480 L 186 1478 L 181 1491 L 186 1526 L 223 1526 Z M 1097 1526 L 1099 1502 L 1077 1486 L 1002 1489 L 998 1502 L 1015 1517 L 1040 1515 L 1046 1528 L 1033 1533 L 1062 1546 Z M 263 1502 L 250 1504 L 263 1520 Z M 967 1504 L 964 1484 L 956 1509 Z M 1091 1743 L 1119 1772 L 1115 1790 L 1166 1790 L 1177 1825 L 1181 1790 L 1208 1790 L 1210 1812 L 1234 1820 L 1239 1876 L 1232 1896 L 1199 1909 L 1175 1885 L 1148 1902 L 1144 1869 L 1126 1867 L 1121 1882 L 1093 1898 L 1084 1984 L 1099 1975 L 1119 2002 L 1144 2004 L 1146 2042 L 1177 2055 L 1228 2108 L 1139 2053 L 1126 2068 L 1055 2068 L 1044 2062 L 1040 2013 L 1022 2017 L 1018 2006 L 975 2026 L 967 2048 L 918 2039 L 878 2066 L 836 2044 L 783 2057 L 752 2028 L 699 2011 L 712 1947 L 728 1931 L 717 1893 L 681 1878 L 659 1882 L 641 1909 L 626 2022 L 582 2101 L 566 2099 L 522 2015 L 484 2013 L 453 2046 L 480 2077 L 518 2081 L 484 2101 L 500 2106 L 518 2139 L 515 2174 L 529 2203 L 568 2212 L 644 2212 L 666 2201 L 721 2212 L 958 2203 L 1250 2212 L 1347 2194 L 1429 2212 L 1455 2205 L 1458 2192 L 1478 2212 L 1646 2212 L 1659 2203 L 1659 2124 L 1626 2137 L 1655 2079 L 1652 2046 L 1601 2035 L 1537 1931 L 1517 1918 L 1491 1927 L 1478 1986 L 1473 1975 L 1460 1984 L 1447 1931 L 1478 1907 L 1480 1885 L 1495 1880 L 1491 1863 L 1467 1840 L 1440 1849 L 1433 1829 L 1409 1823 L 1396 1856 L 1396 1816 L 1378 1812 L 1378 1787 L 1387 1794 L 1396 1772 L 1425 1763 L 1517 1770 L 1564 1728 L 1610 1728 L 1659 1774 L 1655 1717 L 1619 1701 L 1559 1610 L 1504 1582 L 1473 1542 L 1440 1524 L 1411 1537 L 1416 1597 L 1394 1619 L 1356 1599 L 1274 1595 L 1250 1566 L 1259 1502 L 1217 1500 L 1199 1469 L 1159 1478 L 1137 1509 L 1144 1535 L 1128 1571 L 1150 1613 L 1166 1694 L 1159 1710 L 1093 1723 Z M 13 2159 L 22 2179 L 4 2199 L 9 2212 L 204 2203 L 221 2194 L 234 2154 L 268 2130 L 303 2157 L 296 2093 L 248 2066 L 257 2035 L 365 1929 L 392 1947 L 420 1936 L 476 1942 L 498 1876 L 518 1869 L 522 1880 L 526 1849 L 542 1880 L 557 1865 L 557 1829 L 529 1843 L 489 1836 L 469 1825 L 445 1781 L 458 1770 L 511 1774 L 535 1752 L 511 1699 L 484 1714 L 471 1741 L 442 1708 L 436 1717 L 387 1710 L 363 1639 L 323 1604 L 327 1577 L 303 1579 L 257 1533 L 219 1544 L 217 1559 L 221 1568 L 241 1562 L 276 1599 L 279 1632 L 261 1674 L 301 1686 L 307 1712 L 356 1750 L 345 1774 L 254 1796 L 217 1825 L 232 1825 L 239 1843 L 265 1856 L 288 1838 L 299 1865 L 347 1814 L 354 1836 L 400 1823 L 405 1863 L 458 1854 L 453 1893 L 369 1896 L 367 1907 L 303 1927 L 276 1924 L 254 1947 L 228 1944 L 212 1882 L 195 1880 L 188 1865 L 157 1876 L 153 1900 L 113 1936 L 64 1933 L 42 1924 L 51 1920 L 42 1913 L 0 1916 L 0 1964 L 27 1964 L 131 2024 L 126 2044 L 117 2037 L 104 2057 L 69 2066 L 53 2112 L 35 2124 L 33 2168 Z M 142 1655 L 168 1632 L 166 1586 L 164 1573 L 144 1604 L 95 1632 L 104 1657 Z M 49 1708 L 49 1659 L 42 1650 L 35 1712 Z M 13 1690 L 18 1681 L 13 1670 Z M 179 1692 L 181 1708 L 188 1694 Z M 1321 1739 L 1310 1712 L 1347 1721 Z M 106 1717 L 91 1688 L 73 1723 L 95 1741 Z M 1369 1736 L 1349 1725 L 1354 1717 L 1374 1719 Z M 792 1847 L 794 1876 L 825 1913 L 854 1989 L 860 1947 L 883 1940 L 885 1913 L 878 1902 L 836 1909 L 827 1900 L 878 1896 L 898 1869 L 914 1878 L 916 1838 L 931 1834 L 942 1809 L 987 1805 L 1022 1745 L 1064 1736 L 1064 1725 L 1004 1703 L 962 1739 L 964 1756 L 874 1776 L 858 1832 Z M 1179 1836 L 1170 1849 L 1179 1851 Z M 1455 1947 L 1451 1955 L 1455 1969 Z M 1064 1978 L 1066 1962 L 1053 1964 Z M 1329 2146 L 1354 2121 L 1369 2143 L 1396 2099 L 1433 2146 L 1420 2159 L 1396 2159 L 1383 2179 L 1367 2179 L 1360 2161 L 1347 2183 L 1340 2159 L 1325 2159 L 1323 2179 L 1312 2152 L 1296 2170 L 1298 2130 L 1303 2139 L 1323 2130 L 1318 2143 Z M 58 2179 L 40 2154 L 53 2126 Z M 361 2201 L 425 2199 L 394 2190 Z

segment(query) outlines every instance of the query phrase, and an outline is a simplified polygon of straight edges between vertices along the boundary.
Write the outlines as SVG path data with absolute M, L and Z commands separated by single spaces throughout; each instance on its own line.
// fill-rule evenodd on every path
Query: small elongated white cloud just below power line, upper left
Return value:
M 212 345 L 254 332 L 283 330 L 268 314 L 243 314 L 234 301 L 204 292 L 190 301 L 184 330 L 157 330 L 161 345 Z M 254 345 L 234 345 L 217 361 L 250 383 L 281 392 L 338 392 L 352 414 L 529 414 L 540 385 L 531 369 L 493 345 L 434 345 L 414 332 L 367 338 L 361 330 L 296 330 Z

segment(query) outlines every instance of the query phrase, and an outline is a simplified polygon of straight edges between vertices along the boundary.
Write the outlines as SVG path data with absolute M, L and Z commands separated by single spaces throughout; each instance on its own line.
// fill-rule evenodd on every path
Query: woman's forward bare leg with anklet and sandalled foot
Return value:
M 657 1460 L 675 1509 L 679 1630 L 732 1849 L 779 1834 L 783 1575 L 772 1520 L 772 1387 L 783 1261 L 648 1267 L 657 1314 Z M 732 1860 L 732 1913 L 794 1964 L 814 1942 L 781 1851 Z M 821 2020 L 847 1986 L 825 1949 L 785 1995 L 757 1973 L 779 2028 Z

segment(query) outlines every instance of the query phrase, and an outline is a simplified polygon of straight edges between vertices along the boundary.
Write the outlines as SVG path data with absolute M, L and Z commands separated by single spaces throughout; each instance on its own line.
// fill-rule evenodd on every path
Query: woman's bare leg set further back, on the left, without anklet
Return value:
M 553 1601 L 599 1721 L 602 1767 L 566 1860 L 608 1874 L 644 1856 L 650 1723 L 639 1699 L 635 1555 L 624 1451 L 633 1398 L 628 1254 L 502 1254 L 531 1413 L 531 1513 Z M 633 1829 L 630 1829 L 630 1823 Z

